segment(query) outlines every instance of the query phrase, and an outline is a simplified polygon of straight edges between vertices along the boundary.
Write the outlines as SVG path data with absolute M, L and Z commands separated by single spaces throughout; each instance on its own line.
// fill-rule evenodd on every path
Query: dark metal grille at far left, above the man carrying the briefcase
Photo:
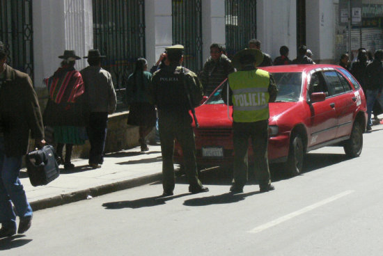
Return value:
M 0 0 L 0 41 L 8 51 L 7 63 L 33 79 L 31 0 Z

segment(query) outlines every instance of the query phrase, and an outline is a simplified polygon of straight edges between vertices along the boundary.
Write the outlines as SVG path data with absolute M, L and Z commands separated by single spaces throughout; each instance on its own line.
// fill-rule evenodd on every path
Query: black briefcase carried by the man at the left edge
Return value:
M 60 175 L 52 145 L 45 145 L 41 150 L 29 152 L 26 154 L 25 163 L 32 186 L 46 185 Z

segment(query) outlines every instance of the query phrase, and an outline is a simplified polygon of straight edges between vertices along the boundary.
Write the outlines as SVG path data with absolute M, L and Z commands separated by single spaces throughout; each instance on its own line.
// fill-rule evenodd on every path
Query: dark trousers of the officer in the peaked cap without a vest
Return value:
M 202 184 L 198 179 L 196 165 L 196 144 L 192 125 L 190 125 L 189 113 L 177 115 L 159 111 L 158 129 L 159 141 L 161 141 L 162 186 L 164 191 L 173 191 L 175 186 L 173 165 L 175 139 L 182 147 L 185 173 L 190 187 L 193 189 L 201 187 Z

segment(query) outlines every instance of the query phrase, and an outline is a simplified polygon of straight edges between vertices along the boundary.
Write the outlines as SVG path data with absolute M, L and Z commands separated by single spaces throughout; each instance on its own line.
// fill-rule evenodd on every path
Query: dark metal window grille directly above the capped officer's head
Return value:
M 173 45 L 185 47 L 184 64 L 194 72 L 202 69 L 201 0 L 172 0 Z

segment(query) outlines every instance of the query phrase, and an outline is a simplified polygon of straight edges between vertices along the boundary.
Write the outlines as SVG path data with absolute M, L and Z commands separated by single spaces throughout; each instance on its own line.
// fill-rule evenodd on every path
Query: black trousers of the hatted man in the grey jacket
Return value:
M 108 113 L 92 112 L 89 115 L 88 134 L 91 151 L 89 152 L 89 163 L 104 162 L 105 139 L 107 138 Z

